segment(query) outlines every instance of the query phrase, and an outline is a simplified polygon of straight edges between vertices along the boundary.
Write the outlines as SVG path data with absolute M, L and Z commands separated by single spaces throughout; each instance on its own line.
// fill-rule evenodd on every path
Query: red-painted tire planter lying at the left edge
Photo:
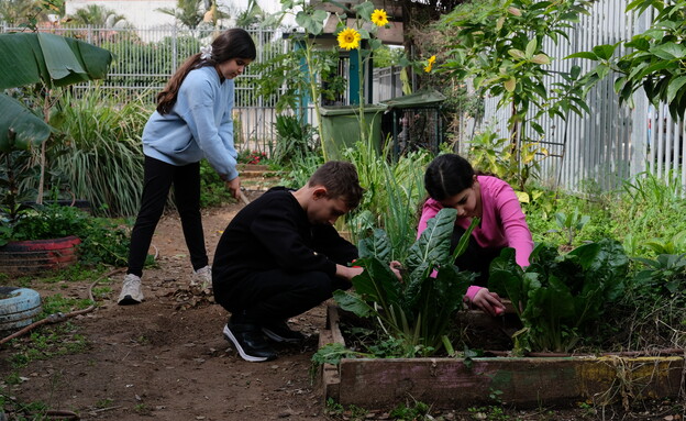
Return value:
M 36 274 L 78 262 L 81 240 L 71 235 L 51 240 L 12 241 L 0 247 L 0 272 L 12 275 Z

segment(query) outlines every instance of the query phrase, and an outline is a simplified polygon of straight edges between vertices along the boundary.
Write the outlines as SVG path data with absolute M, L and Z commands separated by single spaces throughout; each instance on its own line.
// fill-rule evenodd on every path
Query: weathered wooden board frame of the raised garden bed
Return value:
M 485 318 L 488 318 L 484 314 Z M 328 309 L 320 347 L 345 340 L 339 308 Z M 407 399 L 434 408 L 505 402 L 518 407 L 676 398 L 684 386 L 684 352 L 664 356 L 475 358 L 343 358 L 322 369 L 324 399 L 367 409 Z

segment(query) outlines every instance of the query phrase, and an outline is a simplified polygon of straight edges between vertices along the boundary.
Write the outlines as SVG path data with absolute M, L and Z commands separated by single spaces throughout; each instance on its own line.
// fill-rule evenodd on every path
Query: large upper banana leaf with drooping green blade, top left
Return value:
M 46 33 L 0 34 L 0 89 L 101 79 L 110 63 L 112 53 L 75 38 Z

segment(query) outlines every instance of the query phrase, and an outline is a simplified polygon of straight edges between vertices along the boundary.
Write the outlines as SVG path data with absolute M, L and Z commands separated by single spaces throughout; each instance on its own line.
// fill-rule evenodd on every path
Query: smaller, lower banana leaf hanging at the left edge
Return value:
M 21 102 L 0 93 L 0 152 L 13 148 L 25 149 L 31 144 L 40 145 L 51 133 L 51 126 L 43 119 L 27 110 Z M 14 143 L 10 143 L 10 131 Z

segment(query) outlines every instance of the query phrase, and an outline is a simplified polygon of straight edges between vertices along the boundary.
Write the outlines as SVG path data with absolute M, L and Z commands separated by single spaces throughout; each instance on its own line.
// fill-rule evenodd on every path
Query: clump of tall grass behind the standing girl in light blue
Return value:
M 140 100 L 122 103 L 97 87 L 79 98 L 67 92 L 60 108 L 51 170 L 96 214 L 135 214 L 143 188 L 141 134 L 152 109 Z

